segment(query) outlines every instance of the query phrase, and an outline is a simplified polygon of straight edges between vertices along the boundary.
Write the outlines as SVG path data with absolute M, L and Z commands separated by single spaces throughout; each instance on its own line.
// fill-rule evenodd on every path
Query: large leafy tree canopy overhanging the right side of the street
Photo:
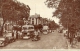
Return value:
M 79 3 L 80 0 L 46 0 L 46 5 L 49 8 L 56 8 L 56 11 L 53 13 L 53 16 L 59 18 L 60 23 L 65 28 L 67 28 L 71 24 L 75 24 L 76 28 L 80 27 Z

